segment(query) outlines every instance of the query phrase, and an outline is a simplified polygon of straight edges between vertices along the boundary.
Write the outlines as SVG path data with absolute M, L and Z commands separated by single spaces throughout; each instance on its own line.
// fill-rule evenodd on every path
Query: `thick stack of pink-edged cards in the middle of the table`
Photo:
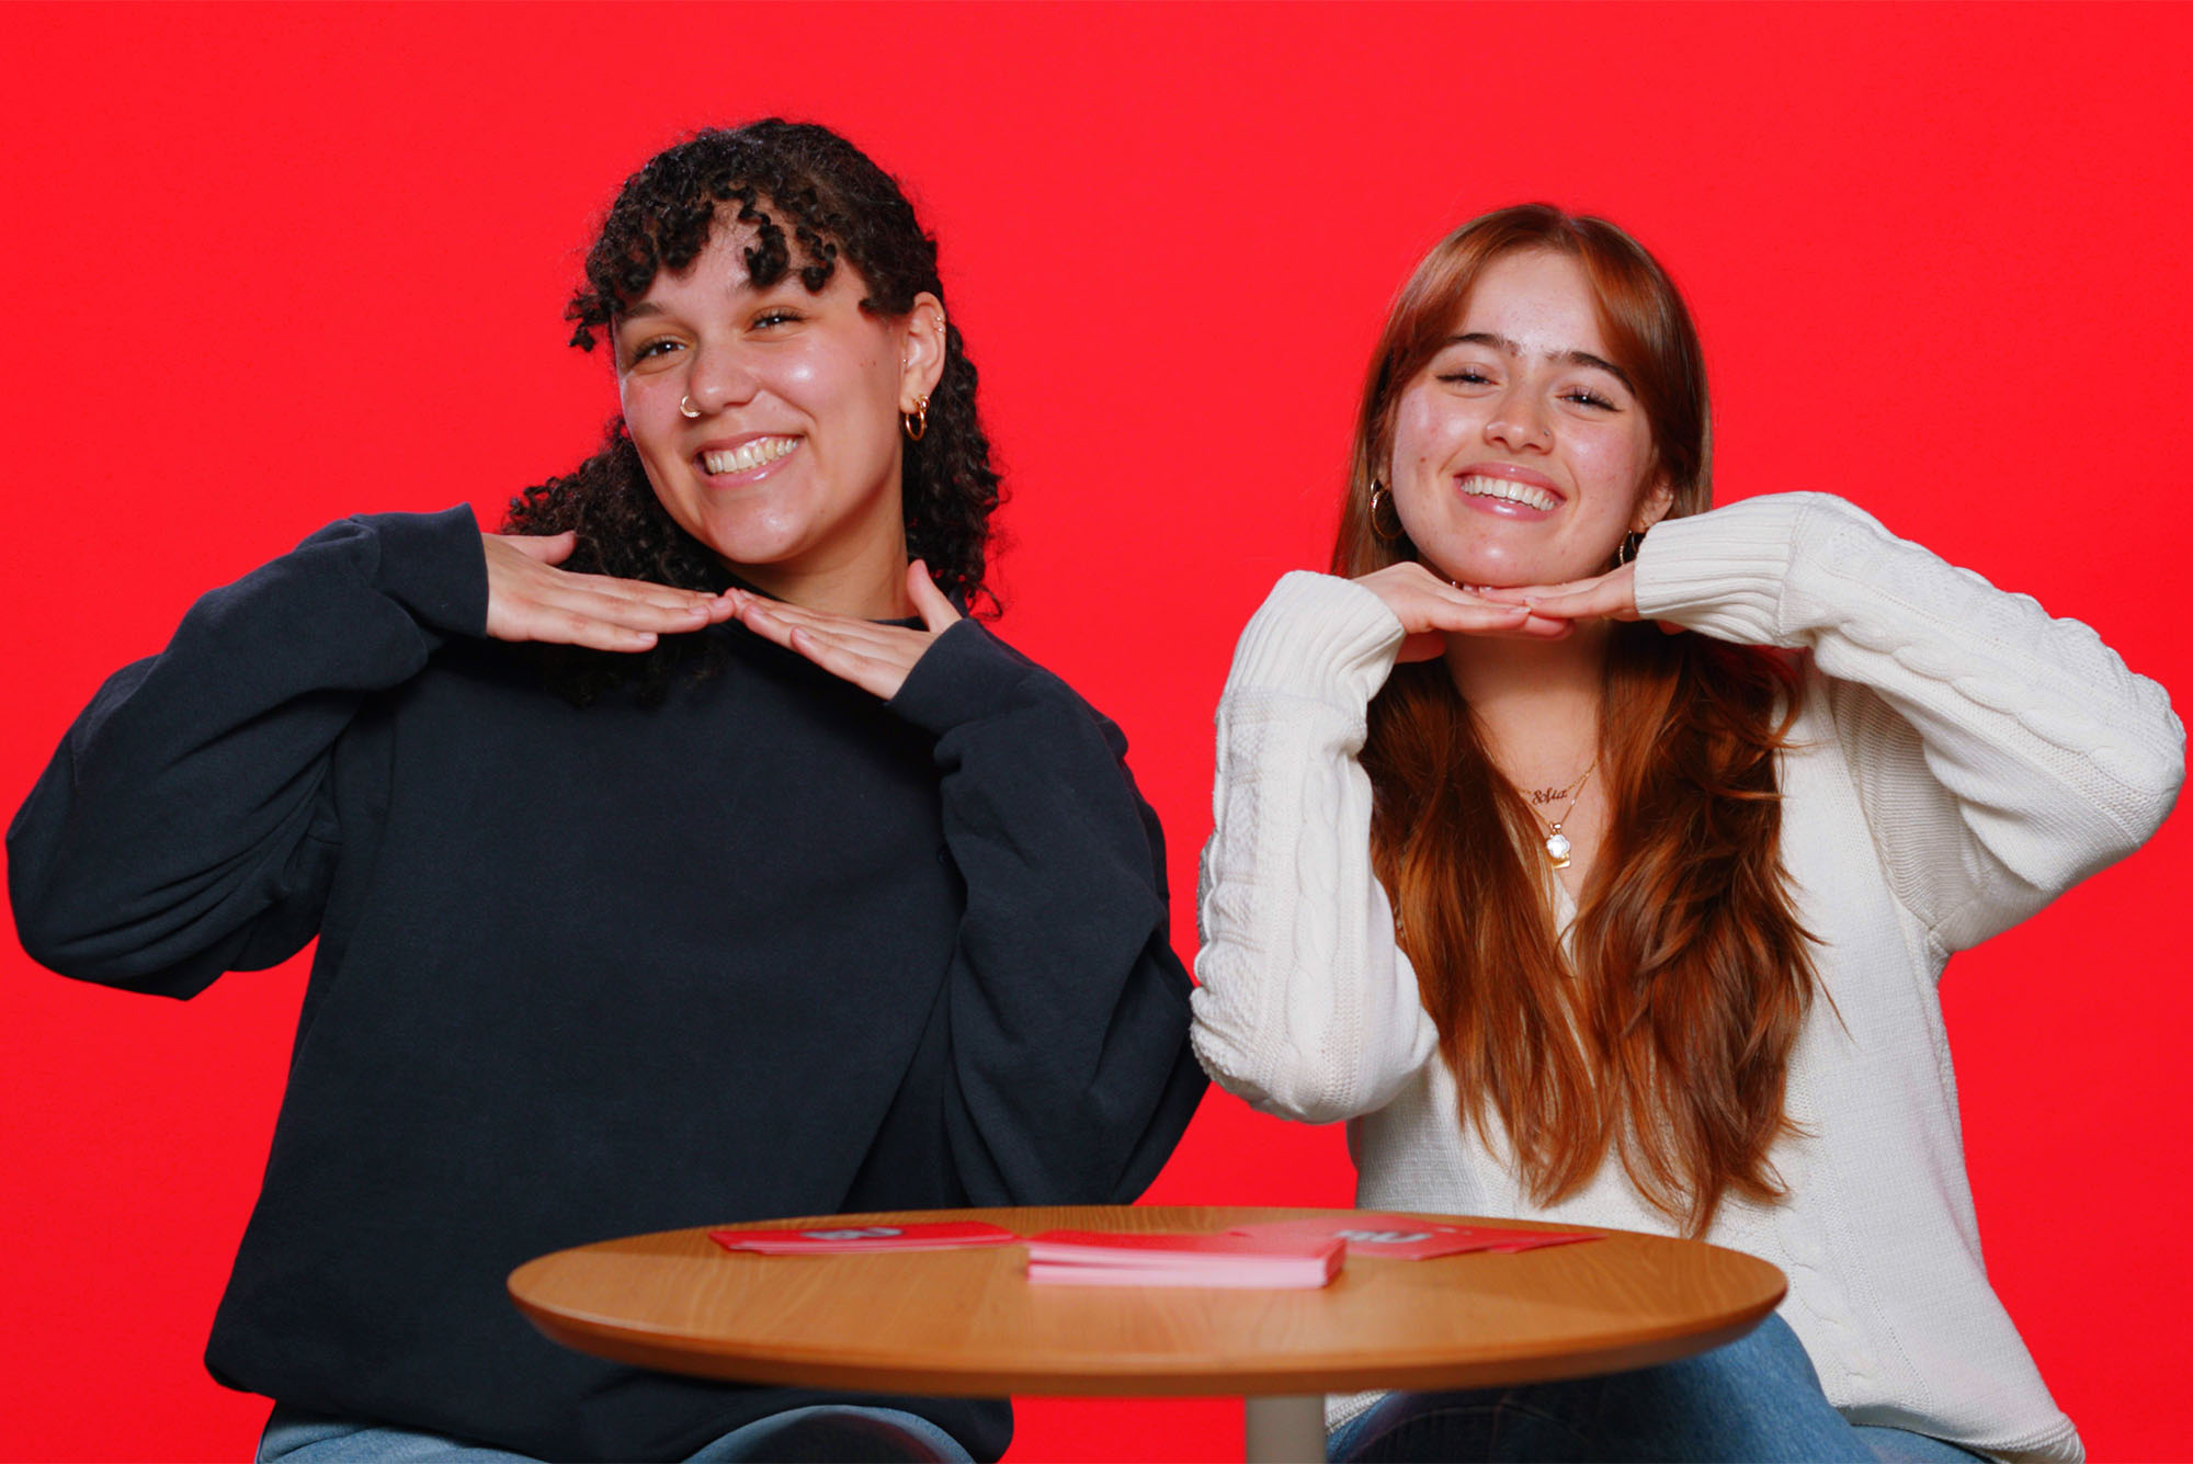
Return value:
M 1311 1289 L 1340 1276 L 1336 1236 L 1114 1234 L 1046 1229 L 1029 1238 L 1029 1280 L 1068 1286 Z

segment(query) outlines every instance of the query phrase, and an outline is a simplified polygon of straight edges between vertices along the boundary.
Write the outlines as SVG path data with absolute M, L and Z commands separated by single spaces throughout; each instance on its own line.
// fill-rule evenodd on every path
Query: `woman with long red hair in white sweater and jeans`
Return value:
M 1333 572 L 1241 636 L 1204 1067 L 1349 1120 L 1364 1205 L 1789 1276 L 1684 1363 L 1333 1398 L 1333 1457 L 2081 1457 L 1980 1265 L 1936 982 L 2132 853 L 2184 734 L 1840 497 L 1711 508 L 1711 456 L 1660 265 L 1487 215 L 1377 342 Z

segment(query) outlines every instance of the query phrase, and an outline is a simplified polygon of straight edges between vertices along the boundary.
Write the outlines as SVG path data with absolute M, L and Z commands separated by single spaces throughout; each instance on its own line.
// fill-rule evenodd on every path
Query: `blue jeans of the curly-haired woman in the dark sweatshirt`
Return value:
M 895 1407 L 818 1405 L 757 1418 L 715 1440 L 691 1464 L 974 1464 L 961 1442 Z M 529 1464 L 522 1453 L 274 1405 L 259 1464 Z

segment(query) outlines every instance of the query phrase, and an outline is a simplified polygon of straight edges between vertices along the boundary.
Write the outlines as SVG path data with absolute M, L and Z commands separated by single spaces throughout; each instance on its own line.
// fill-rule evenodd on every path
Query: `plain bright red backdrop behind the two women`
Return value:
M 1496 204 L 1669 263 L 1724 497 L 1844 493 L 2184 693 L 2189 42 L 2184 7 L 4 7 L 0 796 L 208 585 L 572 465 L 614 401 L 559 320 L 592 221 L 768 112 L 943 239 L 1002 631 L 1134 739 L 1182 951 L 1232 636 L 1325 557 L 1390 291 Z M 1991 1271 L 2103 1460 L 2184 1444 L 2186 866 L 2180 820 L 1945 986 Z M 263 1403 L 197 1354 L 303 964 L 180 1006 L 0 962 L 0 1455 L 248 1457 Z M 1151 1192 L 1349 1197 L 1336 1129 L 1224 1096 Z M 1237 1451 L 1230 1403 L 1037 1400 L 1013 1457 Z

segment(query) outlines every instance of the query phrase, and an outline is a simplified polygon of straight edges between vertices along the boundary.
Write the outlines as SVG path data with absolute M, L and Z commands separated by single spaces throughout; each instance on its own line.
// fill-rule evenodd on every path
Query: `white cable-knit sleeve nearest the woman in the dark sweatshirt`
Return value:
M 1360 585 L 1287 574 L 1219 699 L 1195 1052 L 1228 1091 L 1303 1122 L 1386 1107 L 1436 1050 L 1371 872 L 1364 712 L 1401 622 Z

